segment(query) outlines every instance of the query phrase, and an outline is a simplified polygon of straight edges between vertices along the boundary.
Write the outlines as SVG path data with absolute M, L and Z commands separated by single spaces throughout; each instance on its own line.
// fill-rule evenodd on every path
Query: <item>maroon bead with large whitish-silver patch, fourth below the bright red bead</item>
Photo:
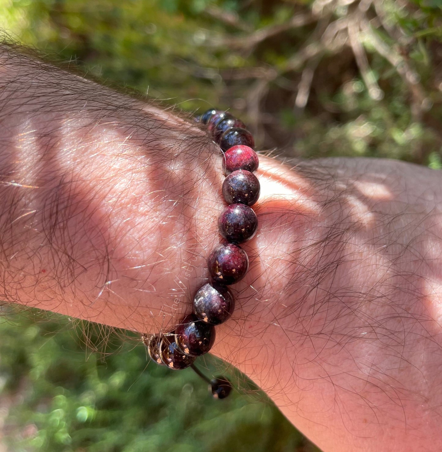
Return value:
M 219 325 L 232 315 L 233 296 L 225 286 L 204 284 L 195 294 L 193 312 L 203 322 Z

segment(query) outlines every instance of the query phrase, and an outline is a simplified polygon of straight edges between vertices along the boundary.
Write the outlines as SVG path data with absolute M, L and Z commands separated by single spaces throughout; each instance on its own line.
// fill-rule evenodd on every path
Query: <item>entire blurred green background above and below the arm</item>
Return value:
M 0 0 L 0 28 L 109 85 L 229 109 L 275 155 L 442 166 L 442 0 Z M 124 331 L 2 309 L 0 452 L 318 450 L 232 369 L 212 400 Z

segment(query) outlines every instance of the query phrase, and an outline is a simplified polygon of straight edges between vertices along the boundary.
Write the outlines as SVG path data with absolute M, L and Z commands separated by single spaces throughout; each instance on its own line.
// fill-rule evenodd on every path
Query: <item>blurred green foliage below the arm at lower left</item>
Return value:
M 8 318 L 0 381 L 12 397 L 3 427 L 11 451 L 288 452 L 303 442 L 263 395 L 214 400 L 190 369 L 147 365 L 142 345 L 126 341 L 103 360 L 85 352 L 82 328 L 66 318 Z M 210 375 L 217 363 L 200 366 Z

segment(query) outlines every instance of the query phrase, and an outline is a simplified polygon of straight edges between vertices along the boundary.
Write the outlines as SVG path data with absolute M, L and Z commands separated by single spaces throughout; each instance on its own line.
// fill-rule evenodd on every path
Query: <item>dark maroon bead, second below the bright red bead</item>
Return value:
M 218 226 L 220 234 L 228 242 L 237 244 L 250 240 L 255 235 L 258 219 L 251 207 L 231 204 L 219 216 Z

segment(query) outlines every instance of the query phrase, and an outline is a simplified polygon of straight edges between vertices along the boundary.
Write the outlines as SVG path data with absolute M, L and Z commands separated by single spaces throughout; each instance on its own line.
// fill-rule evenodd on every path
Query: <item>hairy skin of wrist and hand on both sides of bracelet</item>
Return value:
M 1 297 L 139 332 L 176 325 L 219 242 L 216 146 L 11 48 L 0 65 Z M 324 451 L 440 450 L 439 174 L 292 166 L 260 159 L 251 267 L 214 353 Z

